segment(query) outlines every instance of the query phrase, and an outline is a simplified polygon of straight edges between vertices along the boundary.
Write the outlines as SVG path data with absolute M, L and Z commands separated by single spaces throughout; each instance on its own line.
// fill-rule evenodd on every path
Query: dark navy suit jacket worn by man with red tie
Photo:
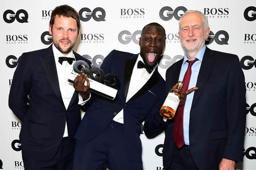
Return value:
M 178 82 L 182 61 L 166 71 L 166 94 Z M 196 166 L 216 170 L 222 158 L 242 161 L 246 90 L 238 57 L 206 47 L 196 86 L 189 124 L 190 151 Z M 164 122 L 155 114 L 144 124 L 146 135 L 165 130 L 164 168 L 170 166 L 174 151 L 174 119 Z

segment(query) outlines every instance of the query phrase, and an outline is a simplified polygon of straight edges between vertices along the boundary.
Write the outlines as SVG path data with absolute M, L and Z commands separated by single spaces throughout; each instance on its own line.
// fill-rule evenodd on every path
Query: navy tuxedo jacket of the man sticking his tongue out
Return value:
M 148 114 L 158 112 L 164 100 L 164 79 L 157 70 L 144 86 L 128 101 L 126 96 L 132 69 L 138 54 L 113 50 L 104 59 L 101 68 L 106 74 L 114 73 L 120 80 L 120 88 L 114 101 L 95 96 L 88 103 L 75 138 L 88 142 L 100 135 L 113 120 L 116 113 L 124 109 L 124 133 L 126 152 L 132 161 L 141 160 L 140 124 Z

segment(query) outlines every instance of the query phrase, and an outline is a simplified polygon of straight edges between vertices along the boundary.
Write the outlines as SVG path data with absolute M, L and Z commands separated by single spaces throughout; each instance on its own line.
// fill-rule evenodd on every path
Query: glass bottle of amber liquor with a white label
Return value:
M 178 89 L 181 89 L 183 82 L 178 82 Z M 175 89 L 171 89 L 164 101 L 163 106 L 161 107 L 159 113 L 164 119 L 172 119 L 175 115 L 175 112 L 179 106 L 180 100 L 179 97 L 174 94 Z

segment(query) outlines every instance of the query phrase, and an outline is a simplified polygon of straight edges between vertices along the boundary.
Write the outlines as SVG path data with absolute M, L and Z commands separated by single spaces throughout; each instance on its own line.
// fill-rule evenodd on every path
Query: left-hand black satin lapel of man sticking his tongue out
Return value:
M 130 60 L 126 61 L 125 68 L 124 68 L 124 100 L 126 100 L 129 84 L 132 76 L 132 70 L 136 63 L 138 55 L 133 55 Z

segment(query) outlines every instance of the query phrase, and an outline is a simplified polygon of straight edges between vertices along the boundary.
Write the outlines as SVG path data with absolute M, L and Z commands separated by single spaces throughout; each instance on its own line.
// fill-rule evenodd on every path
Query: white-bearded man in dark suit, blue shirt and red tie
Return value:
M 180 42 L 186 53 L 166 71 L 166 92 L 179 80 L 198 90 L 186 96 L 174 119 L 166 121 L 156 113 L 144 123 L 146 135 L 165 130 L 165 170 L 234 170 L 235 162 L 243 160 L 244 74 L 236 55 L 205 46 L 209 33 L 202 12 L 190 10 L 180 18 Z

